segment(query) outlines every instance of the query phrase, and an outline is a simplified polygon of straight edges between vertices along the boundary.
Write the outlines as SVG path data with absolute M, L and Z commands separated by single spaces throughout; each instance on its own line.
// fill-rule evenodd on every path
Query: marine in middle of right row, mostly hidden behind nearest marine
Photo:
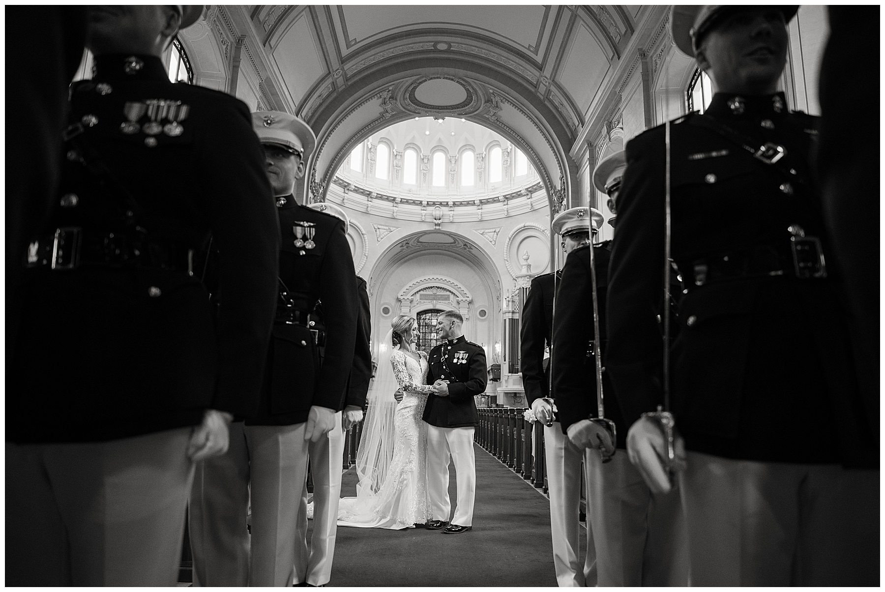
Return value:
M 623 163 L 623 153 L 616 152 L 602 160 L 594 172 L 596 188 L 605 191 L 610 199 L 617 199 Z M 587 227 L 586 221 L 580 222 Z M 601 222 L 600 215 L 598 221 L 594 219 L 594 226 Z M 685 586 L 688 557 L 679 494 L 653 495 L 642 482 L 642 475 L 630 464 L 625 450 L 627 425 L 605 371 L 604 417 L 614 422 L 617 450 L 604 461 L 593 445 L 596 442 L 583 433 L 594 425 L 589 418 L 598 417 L 591 248 L 596 264 L 601 350 L 604 352 L 608 345 L 605 296 L 612 243 L 606 241 L 592 247 L 583 245 L 566 258 L 557 294 L 551 351 L 561 434 L 570 436 L 569 444 L 580 450 L 579 458 L 584 461 L 587 523 L 596 541 L 596 582 L 606 587 Z M 552 499 L 551 484 L 551 502 Z

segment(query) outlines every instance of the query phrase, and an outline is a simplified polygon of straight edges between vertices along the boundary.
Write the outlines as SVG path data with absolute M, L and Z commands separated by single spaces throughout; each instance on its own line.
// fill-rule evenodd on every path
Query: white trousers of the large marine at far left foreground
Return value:
M 7 586 L 174 586 L 192 428 L 6 443 Z

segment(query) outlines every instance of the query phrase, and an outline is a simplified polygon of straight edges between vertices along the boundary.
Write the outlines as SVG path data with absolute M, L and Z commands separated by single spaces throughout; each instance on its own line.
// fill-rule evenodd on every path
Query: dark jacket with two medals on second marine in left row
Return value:
M 273 325 L 258 414 L 246 419 L 252 426 L 303 423 L 312 405 L 341 411 L 357 337 L 357 281 L 344 223 L 297 204 L 293 196 L 284 199 L 277 202 L 282 236 L 278 311 L 289 301 L 297 316 Z M 303 244 L 296 246 L 298 241 Z

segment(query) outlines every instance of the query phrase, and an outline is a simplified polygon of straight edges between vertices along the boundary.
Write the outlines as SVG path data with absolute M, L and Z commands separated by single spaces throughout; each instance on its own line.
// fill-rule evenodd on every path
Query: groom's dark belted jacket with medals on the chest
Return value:
M 440 343 L 427 360 L 427 384 L 449 381 L 449 396 L 427 396 L 424 420 L 436 427 L 475 427 L 479 423 L 474 395 L 486 391 L 486 354 L 464 335 Z

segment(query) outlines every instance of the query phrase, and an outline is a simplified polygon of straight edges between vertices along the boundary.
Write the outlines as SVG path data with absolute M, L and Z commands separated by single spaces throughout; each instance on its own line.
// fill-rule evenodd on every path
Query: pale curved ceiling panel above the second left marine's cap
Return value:
M 273 50 L 273 60 L 294 103 L 328 72 L 307 17 L 308 12 L 302 12 Z

